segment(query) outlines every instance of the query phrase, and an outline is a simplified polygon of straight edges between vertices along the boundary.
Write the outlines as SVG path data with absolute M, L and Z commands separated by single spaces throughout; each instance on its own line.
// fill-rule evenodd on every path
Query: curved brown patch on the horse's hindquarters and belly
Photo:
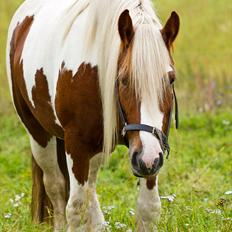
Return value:
M 35 141 L 42 147 L 46 147 L 52 135 L 62 137 L 63 131 L 55 124 L 47 80 L 41 70 L 38 70 L 35 75 L 36 85 L 32 90 L 35 108 L 27 94 L 21 56 L 33 20 L 33 16 L 26 17 L 13 32 L 10 50 L 12 92 L 15 108 L 23 124 Z

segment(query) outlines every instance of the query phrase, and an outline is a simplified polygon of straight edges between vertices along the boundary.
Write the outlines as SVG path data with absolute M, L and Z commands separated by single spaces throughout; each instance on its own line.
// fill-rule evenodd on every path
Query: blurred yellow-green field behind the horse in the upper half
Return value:
M 10 18 L 22 0 L 0 1 L 0 112 L 9 112 L 5 44 Z M 232 4 L 230 0 L 154 0 L 163 23 L 178 12 L 181 30 L 174 48 L 183 111 L 231 107 Z

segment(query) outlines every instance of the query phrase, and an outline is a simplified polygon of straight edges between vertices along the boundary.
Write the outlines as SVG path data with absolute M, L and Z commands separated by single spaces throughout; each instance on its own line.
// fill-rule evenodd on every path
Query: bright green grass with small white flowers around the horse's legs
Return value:
M 182 116 L 181 129 L 172 130 L 171 156 L 160 173 L 160 195 L 176 194 L 174 202 L 162 201 L 159 231 L 229 232 L 232 230 L 231 132 L 232 112 Z M 27 135 L 15 116 L 0 117 L 0 231 L 50 231 L 31 223 L 31 170 Z M 131 174 L 125 147 L 118 147 L 102 168 L 98 194 L 112 231 L 134 230 L 137 179 Z M 25 193 L 19 207 L 10 199 Z M 225 203 L 219 204 L 220 199 Z M 107 210 L 109 206 L 114 208 Z M 221 214 L 209 213 L 220 210 Z M 4 216 L 11 213 L 10 219 Z M 227 219 L 227 220 L 226 220 Z M 228 220 L 230 219 L 230 220 Z M 126 225 L 119 230 L 115 223 Z

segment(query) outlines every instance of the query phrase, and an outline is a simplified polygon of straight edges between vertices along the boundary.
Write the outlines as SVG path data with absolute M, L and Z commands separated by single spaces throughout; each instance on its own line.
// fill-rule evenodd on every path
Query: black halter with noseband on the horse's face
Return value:
M 179 127 L 179 118 L 178 118 L 178 102 L 177 102 L 177 97 L 176 97 L 176 92 L 174 89 L 174 85 L 172 85 L 172 90 L 173 90 L 173 99 L 174 99 L 174 103 L 175 103 L 175 122 L 176 122 L 176 129 L 178 129 Z M 125 113 L 123 111 L 122 108 L 122 104 L 121 101 L 119 99 L 119 83 L 118 83 L 118 79 L 115 82 L 115 96 L 116 96 L 116 101 L 117 101 L 117 105 L 118 105 L 118 111 L 119 111 L 119 116 L 121 119 L 121 123 L 123 125 L 123 129 L 122 129 L 122 136 L 125 138 L 126 134 L 128 131 L 146 131 L 148 133 L 151 133 L 152 135 L 154 135 L 160 143 L 161 149 L 162 151 L 165 153 L 167 151 L 167 159 L 169 157 L 169 153 L 170 153 L 170 146 L 168 143 L 168 136 L 169 136 L 169 132 L 170 132 L 170 128 L 171 128 L 171 121 L 172 121 L 172 109 L 170 111 L 170 115 L 169 115 L 169 122 L 168 122 L 168 128 L 166 131 L 166 134 L 159 130 L 156 127 L 152 127 L 152 126 L 148 126 L 145 124 L 128 124 L 126 117 L 125 117 Z

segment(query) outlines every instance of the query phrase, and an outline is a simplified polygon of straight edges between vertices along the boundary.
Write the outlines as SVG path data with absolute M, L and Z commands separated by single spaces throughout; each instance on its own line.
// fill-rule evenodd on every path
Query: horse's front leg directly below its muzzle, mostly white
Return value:
M 153 180 L 140 179 L 140 193 L 137 205 L 137 231 L 157 231 L 161 202 L 158 192 L 158 177 Z

